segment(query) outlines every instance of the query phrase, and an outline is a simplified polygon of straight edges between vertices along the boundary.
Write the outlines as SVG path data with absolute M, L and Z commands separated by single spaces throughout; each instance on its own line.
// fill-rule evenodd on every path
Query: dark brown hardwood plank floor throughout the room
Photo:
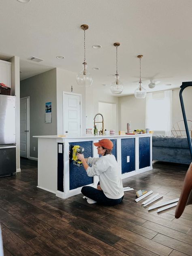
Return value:
M 153 190 L 169 201 L 180 195 L 187 165 L 154 163 L 153 171 L 123 180 L 122 204 L 87 204 L 82 194 L 61 199 L 36 188 L 37 162 L 21 159 L 21 173 L 0 178 L 4 255 L 192 256 L 192 205 L 175 219 L 136 203 L 135 191 Z

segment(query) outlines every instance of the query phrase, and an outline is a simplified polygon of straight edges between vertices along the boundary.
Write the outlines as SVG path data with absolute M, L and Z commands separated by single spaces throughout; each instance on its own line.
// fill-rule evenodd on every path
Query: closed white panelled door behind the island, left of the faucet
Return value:
M 63 132 L 69 135 L 81 135 L 81 95 L 63 94 Z

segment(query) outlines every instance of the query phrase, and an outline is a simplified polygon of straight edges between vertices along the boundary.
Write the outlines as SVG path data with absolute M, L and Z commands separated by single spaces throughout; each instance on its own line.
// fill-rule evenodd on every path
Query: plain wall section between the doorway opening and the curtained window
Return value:
M 127 123 L 131 122 L 131 130 L 145 129 L 146 99 L 136 99 L 134 95 L 119 97 L 119 130 L 127 131 Z

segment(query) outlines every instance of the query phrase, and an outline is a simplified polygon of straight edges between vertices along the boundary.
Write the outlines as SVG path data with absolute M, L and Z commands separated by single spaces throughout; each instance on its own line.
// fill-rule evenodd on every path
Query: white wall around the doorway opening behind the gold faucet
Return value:
M 109 95 L 106 93 L 106 90 L 103 90 L 103 87 L 96 86 L 96 81 L 94 81 L 94 85 L 86 88 L 86 128 L 94 129 L 94 115 L 99 113 L 99 103 L 98 102 L 106 102 L 106 103 L 116 103 L 113 105 L 113 112 L 116 112 L 115 118 L 115 127 L 111 129 L 115 129 L 116 132 L 119 130 L 119 113 L 118 113 L 118 97 L 114 97 L 113 95 Z M 107 88 L 108 89 L 108 88 Z M 109 92 L 108 92 L 109 93 Z M 102 114 L 102 111 L 100 109 Z M 105 119 L 104 119 L 104 129 L 105 129 Z M 108 128 L 107 128 L 108 129 Z M 110 128 L 109 128 L 110 129 Z M 98 130 L 100 130 L 100 126 L 98 126 Z

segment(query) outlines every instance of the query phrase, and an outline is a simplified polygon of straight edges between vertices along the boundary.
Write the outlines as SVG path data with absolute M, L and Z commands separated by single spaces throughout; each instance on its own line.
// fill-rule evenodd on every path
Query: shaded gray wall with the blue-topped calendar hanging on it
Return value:
M 38 157 L 38 139 L 33 138 L 34 135 L 57 134 L 56 91 L 56 68 L 20 82 L 20 98 L 30 96 L 30 157 Z M 50 101 L 52 102 L 52 122 L 46 124 L 45 102 Z

